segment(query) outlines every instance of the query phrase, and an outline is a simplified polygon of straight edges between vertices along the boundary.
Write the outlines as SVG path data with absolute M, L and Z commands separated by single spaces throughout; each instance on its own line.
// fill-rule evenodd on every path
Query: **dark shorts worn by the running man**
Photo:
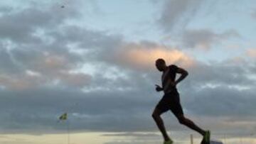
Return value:
M 162 99 L 156 105 L 156 108 L 159 109 L 161 113 L 171 110 L 176 117 L 178 117 L 178 115 L 183 115 L 178 92 L 164 94 Z

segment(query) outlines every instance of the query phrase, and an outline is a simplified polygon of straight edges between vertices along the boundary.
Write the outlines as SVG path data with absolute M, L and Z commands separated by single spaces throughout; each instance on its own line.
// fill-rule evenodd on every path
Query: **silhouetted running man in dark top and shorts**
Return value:
M 210 131 L 204 131 L 203 129 L 199 128 L 195 123 L 193 123 L 193 121 L 186 118 L 183 114 L 176 84 L 181 82 L 188 75 L 188 72 L 183 70 L 181 67 L 177 67 L 176 65 L 166 66 L 166 62 L 161 58 L 156 60 L 156 68 L 160 72 L 163 72 L 161 76 L 162 87 L 156 84 L 156 92 L 164 91 L 164 96 L 156 105 L 156 108 L 152 113 L 152 117 L 154 118 L 156 125 L 164 137 L 164 144 L 173 143 L 171 138 L 169 138 L 169 135 L 167 135 L 164 121 L 160 117 L 162 113 L 168 110 L 171 110 L 174 113 L 176 118 L 178 118 L 179 123 L 188 126 L 188 128 L 191 128 L 198 133 L 201 133 L 201 135 L 203 135 L 202 143 L 209 144 Z M 175 78 L 177 73 L 181 74 L 181 76 L 176 80 Z

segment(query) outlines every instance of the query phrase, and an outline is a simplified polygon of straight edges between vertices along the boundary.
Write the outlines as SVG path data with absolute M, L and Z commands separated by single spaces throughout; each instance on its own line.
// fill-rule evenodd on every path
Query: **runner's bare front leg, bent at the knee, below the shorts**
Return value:
M 154 112 L 152 113 L 152 117 L 154 118 L 154 121 L 156 122 L 156 125 L 158 126 L 159 130 L 161 131 L 164 140 L 170 140 L 169 136 L 166 133 L 166 128 L 164 127 L 164 121 L 160 117 L 161 111 L 159 109 L 154 109 Z

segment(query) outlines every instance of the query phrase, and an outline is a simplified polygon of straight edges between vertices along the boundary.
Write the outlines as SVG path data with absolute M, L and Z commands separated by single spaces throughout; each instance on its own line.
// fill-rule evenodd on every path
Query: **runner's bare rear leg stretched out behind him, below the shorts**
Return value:
M 199 128 L 198 126 L 196 126 L 195 123 L 193 123 L 193 121 L 191 121 L 188 118 L 185 118 L 185 116 L 183 114 L 180 114 L 177 116 L 178 117 L 178 121 L 185 125 L 188 126 L 188 128 L 193 129 L 194 131 L 197 131 L 198 133 L 201 133 L 201 135 L 205 135 L 206 131 L 204 131 L 202 128 Z

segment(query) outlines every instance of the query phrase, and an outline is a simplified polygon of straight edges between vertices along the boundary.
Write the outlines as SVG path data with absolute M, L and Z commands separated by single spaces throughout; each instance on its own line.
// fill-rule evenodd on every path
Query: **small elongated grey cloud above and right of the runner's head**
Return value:
M 240 38 L 235 30 L 225 31 L 223 33 L 214 33 L 208 29 L 186 30 L 182 36 L 182 44 L 185 48 L 201 48 L 208 50 L 213 44 L 221 43 L 229 38 Z

